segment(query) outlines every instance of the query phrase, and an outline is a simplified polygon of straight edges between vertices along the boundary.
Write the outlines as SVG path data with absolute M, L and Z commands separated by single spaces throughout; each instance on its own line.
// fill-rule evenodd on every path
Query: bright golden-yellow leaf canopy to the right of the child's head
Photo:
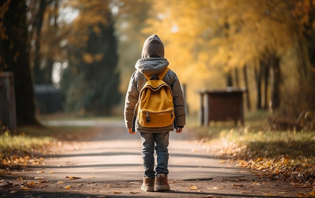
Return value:
M 189 89 L 198 90 L 202 89 L 203 79 L 218 76 L 220 83 L 215 84 L 222 84 L 223 73 L 230 72 L 231 68 L 243 68 L 244 65 L 254 68 L 266 54 L 281 57 L 287 53 L 294 45 L 297 28 L 292 9 L 288 8 L 301 4 L 300 10 L 310 11 L 306 2 L 309 1 L 157 1 L 152 4 L 151 16 L 142 32 L 156 33 L 162 38 L 170 65 L 173 70 L 180 71 L 178 76 L 183 83 L 191 83 L 191 78 L 186 81 L 192 76 L 187 73 L 195 72 L 194 79 L 199 84 Z M 302 11 L 298 14 L 308 16 Z M 301 18 L 300 23 L 305 21 Z M 199 72 L 198 67 L 190 69 L 195 65 L 205 65 L 209 72 Z M 210 76 L 213 71 L 218 73 Z M 205 87 L 209 89 L 215 84 L 209 87 L 208 83 Z M 195 101 L 191 97 L 187 99 Z

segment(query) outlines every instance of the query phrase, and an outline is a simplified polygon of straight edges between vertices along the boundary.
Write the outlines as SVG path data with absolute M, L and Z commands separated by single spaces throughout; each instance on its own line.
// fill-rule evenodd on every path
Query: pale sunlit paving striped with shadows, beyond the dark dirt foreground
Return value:
M 81 177 L 87 181 L 142 179 L 140 136 L 129 135 L 122 121 L 51 121 L 45 124 L 97 125 L 104 130 L 95 141 L 86 142 L 76 151 L 45 159 L 43 166 L 32 168 L 26 176 L 44 177 L 50 181 L 64 180 L 65 176 Z M 242 177 L 248 174 L 220 163 L 222 160 L 214 152 L 188 140 L 190 137 L 191 134 L 185 130 L 182 134 L 171 132 L 169 180 Z M 51 171 L 54 174 L 49 173 Z

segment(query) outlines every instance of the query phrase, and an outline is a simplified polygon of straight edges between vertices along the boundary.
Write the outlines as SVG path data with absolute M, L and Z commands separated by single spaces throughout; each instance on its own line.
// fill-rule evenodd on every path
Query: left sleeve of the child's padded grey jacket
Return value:
M 134 108 L 139 98 L 139 90 L 136 81 L 136 72 L 134 72 L 131 76 L 125 98 L 124 119 L 127 128 L 131 128 L 132 126 Z

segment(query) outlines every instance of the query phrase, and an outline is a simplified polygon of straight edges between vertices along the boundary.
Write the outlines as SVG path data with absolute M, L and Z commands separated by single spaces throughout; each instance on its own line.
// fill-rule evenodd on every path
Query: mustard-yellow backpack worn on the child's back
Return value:
M 139 93 L 137 112 L 139 124 L 143 127 L 165 127 L 174 122 L 175 112 L 171 87 L 163 81 L 170 69 L 159 75 L 145 76 L 147 82 Z M 135 115 L 132 130 L 134 131 Z

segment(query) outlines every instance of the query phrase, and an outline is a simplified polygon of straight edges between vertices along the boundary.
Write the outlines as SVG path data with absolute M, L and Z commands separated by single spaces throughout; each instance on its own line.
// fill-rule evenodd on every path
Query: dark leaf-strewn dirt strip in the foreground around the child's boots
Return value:
M 23 175 L 12 175 L 14 178 Z M 140 190 L 141 180 L 103 181 L 83 183 L 80 180 L 70 183 L 64 189 L 57 182 L 41 183 L 30 190 L 20 190 L 26 179 L 2 186 L 1 197 L 307 197 L 307 189 L 292 187 L 278 181 L 265 181 L 262 178 L 217 177 L 209 180 L 173 180 L 171 190 L 165 192 L 144 192 Z M 37 182 L 37 181 L 34 181 Z

